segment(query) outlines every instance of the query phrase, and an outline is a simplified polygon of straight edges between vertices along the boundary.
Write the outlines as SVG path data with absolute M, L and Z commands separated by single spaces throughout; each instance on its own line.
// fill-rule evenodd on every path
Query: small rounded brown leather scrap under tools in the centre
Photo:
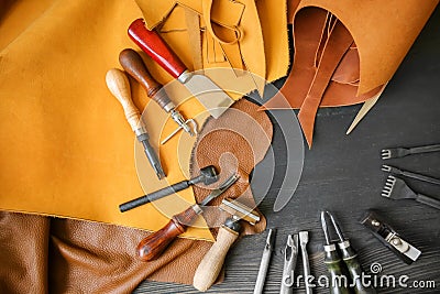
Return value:
M 197 174 L 199 166 L 215 165 L 220 170 L 224 181 L 237 172 L 240 176 L 238 183 L 212 200 L 210 205 L 218 206 L 223 198 L 238 199 L 250 208 L 255 208 L 254 197 L 250 188 L 249 175 L 255 164 L 263 160 L 272 141 L 272 122 L 264 111 L 257 111 L 258 106 L 245 99 L 237 101 L 219 119 L 210 119 L 204 126 L 194 149 L 191 174 Z M 209 189 L 200 186 L 194 187 L 197 202 L 208 195 Z M 217 208 L 211 208 L 204 217 L 216 235 L 217 229 L 224 222 L 229 214 Z M 266 227 L 266 220 L 261 215 L 261 220 L 255 226 L 241 221 L 242 235 L 261 232 Z

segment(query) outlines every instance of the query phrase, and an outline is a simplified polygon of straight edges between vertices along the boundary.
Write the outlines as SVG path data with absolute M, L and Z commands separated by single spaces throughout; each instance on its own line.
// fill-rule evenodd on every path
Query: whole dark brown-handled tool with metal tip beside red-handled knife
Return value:
M 185 120 L 176 105 L 169 99 L 163 86 L 155 80 L 146 68 L 141 55 L 132 48 L 125 48 L 119 54 L 119 63 L 123 69 L 138 80 L 146 90 L 147 96 L 153 99 L 162 109 L 170 113 L 173 120 L 190 135 L 197 133 L 197 124 L 193 119 Z M 193 124 L 193 129 L 188 123 Z

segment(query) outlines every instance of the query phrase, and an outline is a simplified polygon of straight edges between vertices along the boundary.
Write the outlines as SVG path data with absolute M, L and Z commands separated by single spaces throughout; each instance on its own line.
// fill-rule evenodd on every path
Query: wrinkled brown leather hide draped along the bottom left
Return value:
M 211 243 L 176 240 L 157 260 L 136 260 L 147 233 L 89 221 L 0 211 L 2 293 L 131 293 L 144 279 L 191 284 Z

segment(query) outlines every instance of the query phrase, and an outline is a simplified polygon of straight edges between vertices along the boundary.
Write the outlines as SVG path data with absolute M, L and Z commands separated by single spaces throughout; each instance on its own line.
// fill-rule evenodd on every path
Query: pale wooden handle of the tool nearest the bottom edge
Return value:
M 201 260 L 194 275 L 193 285 L 199 291 L 207 291 L 217 280 L 224 258 L 232 243 L 239 238 L 239 232 L 221 227 L 217 235 L 217 241 Z

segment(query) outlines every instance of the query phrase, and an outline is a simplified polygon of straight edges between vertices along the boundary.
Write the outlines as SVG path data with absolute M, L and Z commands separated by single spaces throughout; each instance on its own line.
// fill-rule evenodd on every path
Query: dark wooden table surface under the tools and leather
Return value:
M 414 281 L 435 281 L 436 288 L 380 287 L 378 293 L 440 293 L 440 211 L 411 200 L 394 202 L 381 197 L 386 174 L 380 151 L 389 146 L 416 146 L 440 143 L 440 9 L 430 18 L 399 69 L 388 84 L 377 105 L 345 135 L 360 106 L 320 109 L 316 122 L 314 148 L 306 150 L 300 183 L 289 204 L 273 211 L 275 179 L 260 205 L 268 227 L 278 229 L 276 248 L 266 277 L 265 293 L 278 293 L 283 271 L 284 247 L 288 233 L 310 231 L 308 246 L 311 273 L 326 274 L 323 266 L 323 235 L 319 211 L 333 211 L 344 233 L 360 253 L 364 270 L 382 265 L 381 275 L 408 275 Z M 285 168 L 283 137 L 275 124 L 273 146 L 277 174 Z M 389 164 L 440 178 L 440 153 L 413 155 L 392 160 Z M 283 175 L 282 175 L 283 176 Z M 280 182 L 280 181 L 278 181 Z M 440 188 L 408 181 L 410 186 L 440 198 Z M 362 225 L 365 209 L 376 208 L 386 216 L 408 241 L 422 251 L 411 265 L 398 260 Z M 252 293 L 256 280 L 266 232 L 244 237 L 229 252 L 224 282 L 208 293 Z M 298 259 L 296 273 L 302 273 Z M 397 282 L 396 282 L 397 283 Z M 317 287 L 315 293 L 328 293 Z M 193 286 L 145 281 L 135 293 L 198 293 Z M 305 293 L 302 285 L 294 293 Z

